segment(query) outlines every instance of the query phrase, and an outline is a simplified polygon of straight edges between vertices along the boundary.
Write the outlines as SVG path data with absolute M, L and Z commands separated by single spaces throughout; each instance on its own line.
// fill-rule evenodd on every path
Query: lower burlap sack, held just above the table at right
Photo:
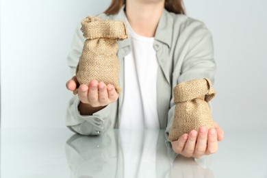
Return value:
M 173 89 L 175 116 L 170 127 L 168 140 L 173 142 L 192 129 L 214 127 L 212 114 L 207 102 L 212 100 L 216 91 L 209 79 L 192 79 L 185 81 Z

